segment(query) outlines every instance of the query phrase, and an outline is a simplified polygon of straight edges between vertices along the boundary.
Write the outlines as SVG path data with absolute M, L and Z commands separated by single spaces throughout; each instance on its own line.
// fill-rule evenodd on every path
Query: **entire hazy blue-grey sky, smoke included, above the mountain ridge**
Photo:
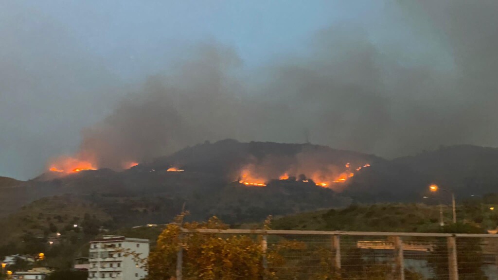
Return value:
M 400 2 L 0 0 L 0 176 L 32 178 L 49 158 L 120 139 L 109 158 L 225 137 L 295 142 L 305 130 L 390 157 L 497 145 L 497 4 Z M 153 114 L 150 100 L 167 105 Z M 136 129 L 165 116 L 186 125 Z M 237 125 L 216 127 L 227 116 Z

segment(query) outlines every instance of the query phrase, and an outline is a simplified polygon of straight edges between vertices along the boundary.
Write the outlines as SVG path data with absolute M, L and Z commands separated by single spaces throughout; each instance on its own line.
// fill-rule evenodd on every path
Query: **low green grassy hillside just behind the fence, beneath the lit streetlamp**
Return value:
M 494 204 L 498 205 L 498 204 Z M 451 223 L 451 207 L 444 206 L 445 224 Z M 498 214 L 480 201 L 467 201 L 457 207 L 459 222 L 483 230 L 497 228 Z M 426 204 L 351 205 L 343 209 L 328 209 L 289 215 L 275 219 L 272 228 L 278 230 L 436 232 L 439 230 L 439 207 Z

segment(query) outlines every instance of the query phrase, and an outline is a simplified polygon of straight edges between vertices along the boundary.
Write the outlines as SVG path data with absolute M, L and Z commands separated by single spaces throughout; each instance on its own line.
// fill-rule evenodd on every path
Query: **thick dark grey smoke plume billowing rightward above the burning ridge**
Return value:
M 311 36 L 308 55 L 252 74 L 231 48 L 202 45 L 85 130 L 82 152 L 121 168 L 204 140 L 304 142 L 306 133 L 388 157 L 496 146 L 498 1 L 478 2 L 391 3 L 376 25 L 384 33 L 333 26 Z M 400 38 L 384 40 L 399 26 Z

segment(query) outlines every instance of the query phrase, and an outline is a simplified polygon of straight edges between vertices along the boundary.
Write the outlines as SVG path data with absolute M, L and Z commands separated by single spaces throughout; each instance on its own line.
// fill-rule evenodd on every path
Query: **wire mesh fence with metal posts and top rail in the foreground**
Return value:
M 249 237 L 261 275 L 278 280 L 498 280 L 498 235 L 183 229 L 182 235 Z M 188 238 L 183 242 L 188 243 Z M 177 263 L 177 280 L 203 279 Z M 213 263 L 213 266 L 222 266 Z M 195 265 L 194 265 L 195 266 Z

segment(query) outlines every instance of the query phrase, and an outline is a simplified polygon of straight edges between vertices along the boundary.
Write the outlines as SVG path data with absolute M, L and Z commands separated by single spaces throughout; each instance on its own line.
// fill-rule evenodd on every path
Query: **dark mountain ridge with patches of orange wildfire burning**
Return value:
M 164 223 L 184 203 L 192 219 L 217 215 L 229 223 L 244 223 L 352 201 L 420 202 L 431 183 L 453 189 L 457 200 L 464 199 L 494 192 L 497 167 L 498 149 L 470 145 L 386 160 L 322 145 L 222 140 L 186 147 L 121 172 L 47 172 L 4 188 L 0 213 L 45 196 L 74 194 L 99 200 L 118 213 L 123 225 L 140 224 L 144 217 Z M 449 197 L 439 195 L 444 201 Z

